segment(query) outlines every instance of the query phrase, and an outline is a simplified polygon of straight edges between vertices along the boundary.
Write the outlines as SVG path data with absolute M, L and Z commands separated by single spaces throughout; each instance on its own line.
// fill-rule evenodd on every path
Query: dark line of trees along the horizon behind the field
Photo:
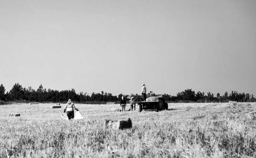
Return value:
M 80 103 L 105 103 L 105 102 L 119 102 L 120 98 L 124 94 L 112 95 L 111 93 L 88 93 L 79 92 L 72 88 L 71 90 L 46 90 L 43 88 L 42 84 L 37 90 L 32 89 L 31 86 L 28 88 L 23 88 L 21 84 L 15 83 L 12 89 L 5 93 L 5 88 L 3 84 L 0 86 L 0 100 L 1 101 L 36 101 L 36 102 L 66 102 L 68 99 Z M 149 95 L 149 93 L 148 93 Z M 130 94 L 127 96 L 141 97 L 140 94 Z M 198 91 L 195 93 L 192 89 L 187 89 L 182 92 L 178 92 L 176 96 L 163 94 L 162 95 L 167 102 L 228 102 L 228 101 L 238 101 L 238 102 L 254 102 L 256 99 L 253 94 L 248 93 L 238 93 L 237 91 L 232 91 L 230 95 L 225 92 L 223 96 L 219 93 L 215 96 L 211 92 Z

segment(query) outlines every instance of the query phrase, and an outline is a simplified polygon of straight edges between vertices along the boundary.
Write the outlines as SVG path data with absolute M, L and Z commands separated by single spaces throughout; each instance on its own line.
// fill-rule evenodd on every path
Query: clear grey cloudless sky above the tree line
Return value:
M 255 0 L 0 0 L 0 84 L 256 95 Z

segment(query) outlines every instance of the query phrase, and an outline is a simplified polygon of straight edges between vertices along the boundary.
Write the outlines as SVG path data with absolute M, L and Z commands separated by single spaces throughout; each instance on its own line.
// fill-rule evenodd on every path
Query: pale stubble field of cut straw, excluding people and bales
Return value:
M 112 112 L 75 104 L 82 120 L 63 120 L 50 104 L 2 105 L 0 157 L 255 157 L 255 103 L 178 103 L 161 112 Z M 61 105 L 62 107 L 64 104 Z M 129 109 L 130 105 L 126 106 Z M 8 117 L 20 113 L 20 117 Z M 104 118 L 130 117 L 132 128 L 105 129 Z

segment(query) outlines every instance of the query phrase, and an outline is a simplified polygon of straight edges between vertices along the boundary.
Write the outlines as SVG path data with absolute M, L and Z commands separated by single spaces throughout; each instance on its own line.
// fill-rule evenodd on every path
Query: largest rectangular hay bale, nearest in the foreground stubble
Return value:
M 131 128 L 131 126 L 132 123 L 130 117 L 105 119 L 105 128 L 125 129 Z

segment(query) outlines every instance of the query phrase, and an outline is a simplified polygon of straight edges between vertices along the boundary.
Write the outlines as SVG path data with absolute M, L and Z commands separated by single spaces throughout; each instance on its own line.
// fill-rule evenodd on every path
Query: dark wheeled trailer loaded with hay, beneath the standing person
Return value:
M 142 110 L 149 109 L 154 109 L 157 112 L 168 109 L 168 104 L 165 102 L 165 98 L 163 98 L 162 95 L 148 97 L 146 101 L 141 101 L 141 98 L 138 98 L 137 101 L 140 112 L 142 112 Z

